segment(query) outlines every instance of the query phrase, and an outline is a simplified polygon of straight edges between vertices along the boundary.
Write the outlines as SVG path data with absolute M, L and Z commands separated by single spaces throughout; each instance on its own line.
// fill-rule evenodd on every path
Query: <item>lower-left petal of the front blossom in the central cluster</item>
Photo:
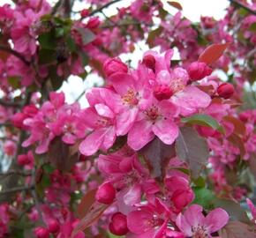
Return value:
M 152 123 L 141 120 L 132 126 L 128 133 L 127 143 L 133 150 L 138 151 L 153 139 Z

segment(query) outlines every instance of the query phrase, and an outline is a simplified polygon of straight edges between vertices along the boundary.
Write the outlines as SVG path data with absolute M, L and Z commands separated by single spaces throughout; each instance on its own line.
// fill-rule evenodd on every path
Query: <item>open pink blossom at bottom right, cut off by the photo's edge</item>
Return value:
M 215 208 L 205 217 L 200 205 L 191 205 L 184 214 L 179 213 L 177 227 L 186 235 L 194 238 L 212 237 L 211 234 L 220 230 L 229 221 L 229 214 L 222 208 Z

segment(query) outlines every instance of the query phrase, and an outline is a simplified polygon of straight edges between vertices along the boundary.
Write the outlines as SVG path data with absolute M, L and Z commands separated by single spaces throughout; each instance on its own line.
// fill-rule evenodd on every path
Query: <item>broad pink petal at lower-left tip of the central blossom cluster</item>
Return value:
M 97 152 L 102 145 L 104 135 L 106 133 L 105 129 L 94 130 L 90 135 L 85 138 L 85 140 L 79 145 L 79 152 L 89 156 Z

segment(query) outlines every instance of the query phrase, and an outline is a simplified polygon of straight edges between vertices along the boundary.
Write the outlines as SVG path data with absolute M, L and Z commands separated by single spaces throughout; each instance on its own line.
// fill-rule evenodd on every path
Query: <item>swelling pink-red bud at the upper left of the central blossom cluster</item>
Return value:
M 125 63 L 123 63 L 119 58 L 113 58 L 107 60 L 103 65 L 103 71 L 107 77 L 115 73 L 127 73 L 128 68 Z

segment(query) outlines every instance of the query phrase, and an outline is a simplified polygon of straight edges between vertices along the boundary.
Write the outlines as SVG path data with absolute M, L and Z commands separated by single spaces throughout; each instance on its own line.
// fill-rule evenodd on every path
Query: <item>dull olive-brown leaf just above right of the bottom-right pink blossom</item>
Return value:
M 230 199 L 224 199 L 224 198 L 215 198 L 214 200 L 215 207 L 221 207 L 226 212 L 229 213 L 230 219 L 232 220 L 239 220 L 241 222 L 245 222 L 247 224 L 250 224 L 251 221 L 248 219 L 245 210 L 242 209 L 242 207 Z

